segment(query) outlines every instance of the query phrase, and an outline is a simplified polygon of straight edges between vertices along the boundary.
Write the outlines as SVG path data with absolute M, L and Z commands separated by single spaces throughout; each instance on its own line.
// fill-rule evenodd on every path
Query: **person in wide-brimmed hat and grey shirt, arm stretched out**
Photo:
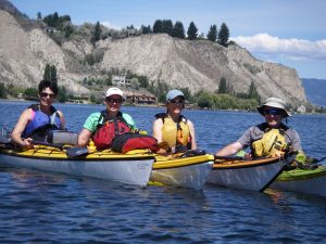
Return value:
M 265 123 L 249 128 L 236 142 L 216 152 L 216 156 L 230 156 L 242 149 L 251 147 L 251 156 L 280 156 L 288 151 L 302 151 L 300 137 L 294 129 L 283 124 L 290 113 L 285 102 L 268 98 L 258 107 Z

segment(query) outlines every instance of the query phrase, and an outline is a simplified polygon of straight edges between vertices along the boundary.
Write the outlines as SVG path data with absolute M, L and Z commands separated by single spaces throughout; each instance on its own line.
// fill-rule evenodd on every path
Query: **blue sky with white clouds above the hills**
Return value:
M 10 0 L 36 18 L 58 12 L 73 24 L 96 23 L 125 28 L 153 26 L 156 20 L 180 21 L 199 34 L 225 23 L 230 40 L 254 57 L 279 63 L 300 78 L 326 79 L 325 0 Z

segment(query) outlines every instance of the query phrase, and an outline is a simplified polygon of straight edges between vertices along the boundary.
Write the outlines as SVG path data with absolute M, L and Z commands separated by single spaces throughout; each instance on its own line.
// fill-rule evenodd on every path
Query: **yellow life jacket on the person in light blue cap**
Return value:
M 170 147 L 186 146 L 191 149 L 191 134 L 185 116 L 179 117 L 175 123 L 166 113 L 155 115 L 163 120 L 162 141 L 167 142 Z

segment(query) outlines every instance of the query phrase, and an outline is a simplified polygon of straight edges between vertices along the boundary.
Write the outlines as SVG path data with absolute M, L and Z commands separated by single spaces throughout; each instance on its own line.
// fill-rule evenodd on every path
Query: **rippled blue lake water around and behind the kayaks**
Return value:
M 29 103 L 0 101 L 0 124 L 12 128 Z M 68 129 L 79 131 L 99 105 L 57 104 Z M 151 131 L 164 108 L 123 107 Z M 200 149 L 215 152 L 248 127 L 258 113 L 185 111 Z M 326 116 L 296 115 L 303 149 L 326 154 Z M 326 197 L 238 191 L 206 185 L 200 192 L 133 185 L 90 178 L 0 168 L 0 243 L 322 243 Z

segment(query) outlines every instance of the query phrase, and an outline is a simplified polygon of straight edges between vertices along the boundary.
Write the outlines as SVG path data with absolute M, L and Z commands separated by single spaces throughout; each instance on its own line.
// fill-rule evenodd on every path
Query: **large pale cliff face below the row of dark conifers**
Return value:
M 306 101 L 294 69 L 262 62 L 238 47 L 224 48 L 205 40 L 189 41 L 167 35 L 143 35 L 102 42 L 105 50 L 102 68 L 120 67 L 164 80 L 190 91 L 214 91 L 222 77 L 237 92 L 247 92 L 253 81 L 263 98 L 279 97 Z

